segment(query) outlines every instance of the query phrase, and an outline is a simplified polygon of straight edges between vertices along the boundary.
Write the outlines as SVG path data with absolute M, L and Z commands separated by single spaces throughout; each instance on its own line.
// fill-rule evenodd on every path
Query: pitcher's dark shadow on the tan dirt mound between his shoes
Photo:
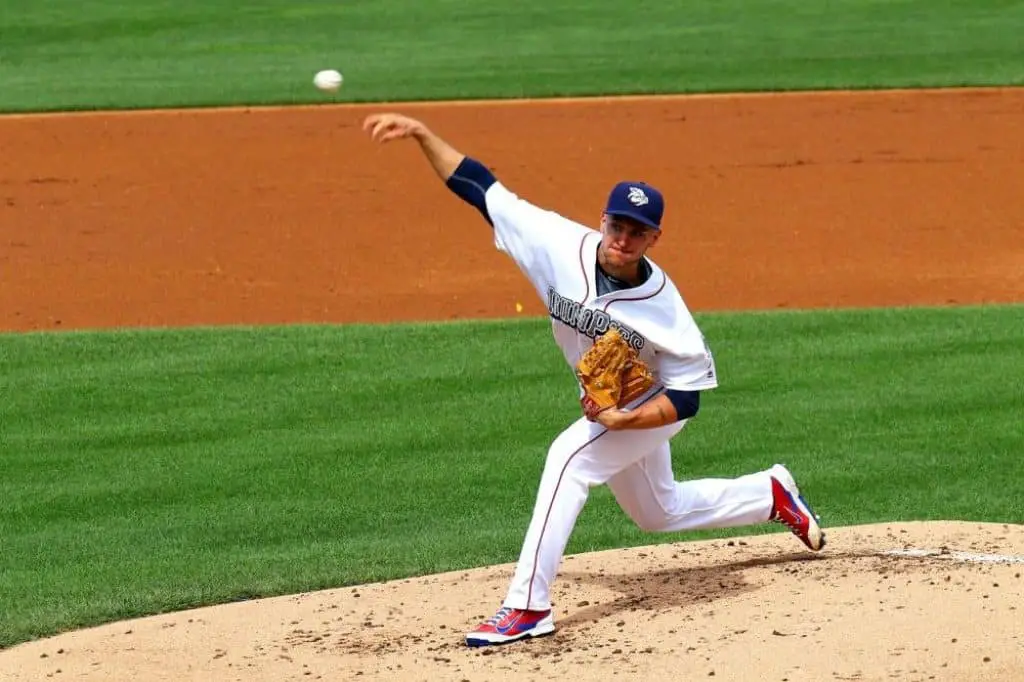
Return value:
M 598 585 L 622 593 L 622 596 L 603 604 L 572 609 L 559 619 L 558 625 L 560 629 L 566 630 L 601 621 L 623 611 L 653 611 L 705 604 L 762 589 L 763 585 L 754 585 L 746 581 L 742 572 L 744 568 L 844 558 L 848 557 L 842 553 L 793 552 L 709 566 L 640 570 L 635 573 L 563 571 L 559 574 L 561 580 Z

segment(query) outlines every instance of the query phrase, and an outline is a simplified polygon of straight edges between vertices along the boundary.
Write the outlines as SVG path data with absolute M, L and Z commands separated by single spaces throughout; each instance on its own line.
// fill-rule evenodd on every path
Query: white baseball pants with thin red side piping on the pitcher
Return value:
M 581 417 L 551 443 L 519 561 L 504 605 L 551 608 L 551 584 L 590 488 L 607 483 L 644 530 L 764 523 L 772 510 L 768 471 L 738 478 L 676 481 L 669 439 L 685 421 L 607 431 Z

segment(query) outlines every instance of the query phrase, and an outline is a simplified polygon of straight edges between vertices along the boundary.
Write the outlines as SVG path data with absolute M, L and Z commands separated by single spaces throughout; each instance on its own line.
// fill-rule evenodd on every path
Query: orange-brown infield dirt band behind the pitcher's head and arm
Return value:
M 542 313 L 379 109 L 0 119 L 0 329 Z M 401 109 L 580 220 L 663 185 L 695 310 L 1024 300 L 1024 90 Z

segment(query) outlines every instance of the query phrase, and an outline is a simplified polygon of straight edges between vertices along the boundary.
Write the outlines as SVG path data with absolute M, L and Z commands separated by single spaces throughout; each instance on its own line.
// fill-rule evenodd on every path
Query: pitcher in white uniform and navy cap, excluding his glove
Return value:
M 670 439 L 696 416 L 701 391 L 718 386 L 715 359 L 669 275 L 648 256 L 662 235 L 660 191 L 615 184 L 594 229 L 539 208 L 506 188 L 479 161 L 423 123 L 370 116 L 371 139 L 416 140 L 437 175 L 492 225 L 507 254 L 547 304 L 555 342 L 575 368 L 594 340 L 616 329 L 651 369 L 653 386 L 622 409 L 586 412 L 551 443 L 515 573 L 498 612 L 466 634 L 470 646 L 554 632 L 550 594 L 589 489 L 607 484 L 649 531 L 777 521 L 811 550 L 825 544 L 818 519 L 782 465 L 737 478 L 676 481 Z

